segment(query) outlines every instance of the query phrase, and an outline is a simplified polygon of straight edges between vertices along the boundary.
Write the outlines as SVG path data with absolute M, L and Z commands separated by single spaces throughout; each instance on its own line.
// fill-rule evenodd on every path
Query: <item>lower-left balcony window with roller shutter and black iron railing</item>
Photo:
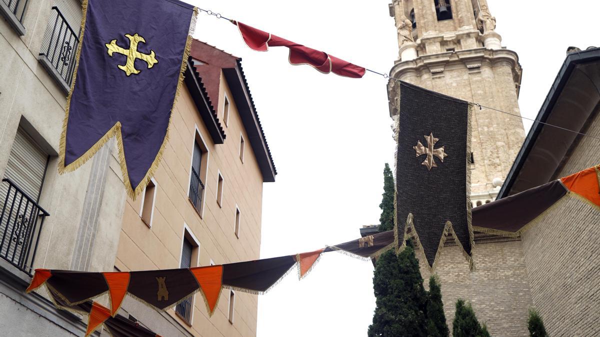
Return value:
M 38 204 L 48 155 L 19 128 L 0 183 L 0 257 L 31 275 L 41 227 Z

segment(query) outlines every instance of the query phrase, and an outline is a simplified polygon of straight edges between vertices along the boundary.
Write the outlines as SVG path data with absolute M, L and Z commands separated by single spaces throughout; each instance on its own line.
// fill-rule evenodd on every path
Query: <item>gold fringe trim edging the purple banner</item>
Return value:
M 110 128 L 110 130 L 107 131 L 106 134 L 104 134 L 104 136 L 102 136 L 100 138 L 100 140 L 98 140 L 98 142 L 96 142 L 91 148 L 88 149 L 88 151 L 85 152 L 85 154 L 83 154 L 82 156 L 77 158 L 77 160 L 73 161 L 73 163 L 68 164 L 68 166 L 65 166 L 67 123 L 68 123 L 68 118 L 69 118 L 69 110 L 70 110 L 70 106 L 71 106 L 71 97 L 73 96 L 73 89 L 75 88 L 75 82 L 77 80 L 77 70 L 79 68 L 79 58 L 81 56 L 81 48 L 83 45 L 83 36 L 85 34 L 85 20 L 86 20 L 87 11 L 88 11 L 88 0 L 83 0 L 82 21 L 81 21 L 81 32 L 82 33 L 81 33 L 81 37 L 80 37 L 80 41 L 82 41 L 82 43 L 80 43 L 79 46 L 77 47 L 77 53 L 76 53 L 76 57 L 75 57 L 76 65 L 75 65 L 75 70 L 73 72 L 73 83 L 71 83 L 71 89 L 70 89 L 69 95 L 67 97 L 67 107 L 65 109 L 65 119 L 62 123 L 62 133 L 61 133 L 61 140 L 60 140 L 60 145 L 59 145 L 58 173 L 64 174 L 65 172 L 71 172 L 76 169 L 79 169 L 79 167 L 81 167 L 83 164 L 85 164 L 90 158 L 94 157 L 96 152 L 98 152 L 98 150 L 100 150 L 110 138 L 112 138 L 113 136 L 116 136 L 117 148 L 118 148 L 118 152 L 119 152 L 119 164 L 121 166 L 121 174 L 123 177 L 123 183 L 125 185 L 125 191 L 127 191 L 127 195 L 132 200 L 136 200 L 137 195 L 139 195 L 146 188 L 146 186 L 152 179 L 152 176 L 154 176 L 155 171 L 158 169 L 160 161 L 163 159 L 163 154 L 166 149 L 166 145 L 169 142 L 169 133 L 170 133 L 170 128 L 171 128 L 172 119 L 173 119 L 173 109 L 175 109 L 175 104 L 177 103 L 177 98 L 179 97 L 179 93 L 181 92 L 181 87 L 182 87 L 182 83 L 183 83 L 183 79 L 184 79 L 185 70 L 187 69 L 187 60 L 190 57 L 191 41 L 193 40 L 193 37 L 190 34 L 190 32 L 194 31 L 197 16 L 198 16 L 198 8 L 194 7 L 194 13 L 193 13 L 192 19 L 190 21 L 190 28 L 188 29 L 188 36 L 187 36 L 187 41 L 185 42 L 184 54 L 182 55 L 181 68 L 179 69 L 179 79 L 177 82 L 177 89 L 175 91 L 175 97 L 173 98 L 173 106 L 171 107 L 171 110 L 169 112 L 169 124 L 167 124 L 167 130 L 164 135 L 163 143 L 161 144 L 160 149 L 158 150 L 158 153 L 157 153 L 156 157 L 154 158 L 154 161 L 152 161 L 152 165 L 150 166 L 150 168 L 146 172 L 146 175 L 143 177 L 143 179 L 140 181 L 140 183 L 136 186 L 136 188 L 133 188 L 133 186 L 131 186 L 129 174 L 127 173 L 127 163 L 125 163 L 125 151 L 123 148 L 123 139 L 122 139 L 122 135 L 121 135 L 121 122 L 120 121 L 116 122 L 115 125 L 113 125 L 113 127 Z

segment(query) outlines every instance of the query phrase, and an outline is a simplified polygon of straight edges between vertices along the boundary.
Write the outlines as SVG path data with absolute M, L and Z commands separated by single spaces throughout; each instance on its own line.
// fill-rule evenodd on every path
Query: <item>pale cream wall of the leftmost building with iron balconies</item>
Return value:
M 74 0 L 75 1 L 75 0 Z M 121 225 L 125 194 L 119 170 L 92 174 L 94 160 L 73 173 L 59 175 L 56 169 L 58 142 L 64 119 L 66 95 L 38 62 L 41 41 L 46 31 L 52 2 L 29 0 L 23 25 L 26 34 L 19 36 L 2 17 L 0 19 L 0 176 L 8 161 L 19 123 L 50 155 L 50 163 L 40 197 L 40 206 L 50 213 L 43 224 L 40 245 L 34 267 L 71 269 L 81 226 L 94 228 L 100 243 L 83 247 L 86 269 L 112 270 L 116 242 Z M 118 167 L 114 149 L 105 157 L 110 167 Z M 105 173 L 106 172 L 106 173 Z M 86 186 L 103 175 L 106 193 L 97 200 L 86 201 Z M 95 207 L 95 216 L 83 218 L 82 213 Z M 101 216 L 101 221 L 94 222 Z M 97 228 L 91 224 L 97 224 Z M 85 229 L 85 228 L 84 228 Z M 80 241 L 79 241 L 80 243 Z M 82 248 L 82 247 L 80 247 Z M 81 249 L 80 249 L 81 250 Z

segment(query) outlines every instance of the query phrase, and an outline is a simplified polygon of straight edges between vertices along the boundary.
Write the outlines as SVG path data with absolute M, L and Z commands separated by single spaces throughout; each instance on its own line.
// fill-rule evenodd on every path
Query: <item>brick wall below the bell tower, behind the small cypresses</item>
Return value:
M 479 322 L 487 324 L 492 336 L 528 335 L 527 310 L 532 298 L 522 243 L 495 240 L 499 242 L 475 242 L 475 272 L 469 272 L 469 264 L 457 246 L 443 248 L 436 273 L 442 283 L 444 312 L 451 332 L 456 300 L 463 298 L 472 303 Z M 420 250 L 416 255 L 424 261 Z M 421 275 L 428 285 L 430 273 L 423 263 Z

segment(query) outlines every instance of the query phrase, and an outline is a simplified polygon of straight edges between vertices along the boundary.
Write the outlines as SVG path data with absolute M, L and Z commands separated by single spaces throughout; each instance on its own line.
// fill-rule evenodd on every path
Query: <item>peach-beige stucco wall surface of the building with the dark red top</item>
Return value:
M 230 102 L 227 125 L 223 122 L 224 92 Z M 224 144 L 215 145 L 190 92 L 185 86 L 182 89 L 173 110 L 169 144 L 154 176 L 157 192 L 152 227 L 148 228 L 140 218 L 141 198 L 128 200 L 115 263 L 118 269 L 178 268 L 184 224 L 199 240 L 198 266 L 208 266 L 211 259 L 215 264 L 222 264 L 260 257 L 262 174 L 222 74 L 220 95 L 217 111 L 227 139 Z M 187 195 L 196 128 L 209 151 L 206 177 L 201 177 L 206 188 L 202 216 L 196 212 Z M 239 158 L 240 134 L 245 139 L 243 163 Z M 224 179 L 222 207 L 217 204 L 218 172 Z M 234 233 L 236 205 L 241 212 L 239 239 Z M 192 264 L 195 262 L 192 261 Z M 223 290 L 211 318 L 208 318 L 202 295 L 195 295 L 191 327 L 173 309 L 169 313 L 196 336 L 256 335 L 257 296 L 236 292 L 233 324 L 228 321 L 228 310 L 229 290 Z M 143 317 L 138 318 L 143 323 Z M 160 333 L 160 330 L 157 332 Z

